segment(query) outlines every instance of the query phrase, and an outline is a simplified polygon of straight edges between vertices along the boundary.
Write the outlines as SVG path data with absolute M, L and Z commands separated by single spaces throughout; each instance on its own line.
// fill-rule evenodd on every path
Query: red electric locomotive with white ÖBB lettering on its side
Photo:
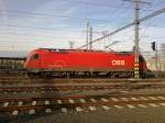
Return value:
M 48 49 L 31 52 L 25 62 L 29 71 L 51 76 L 106 75 L 109 77 L 133 77 L 134 54 L 103 51 Z M 140 55 L 140 71 L 147 70 Z

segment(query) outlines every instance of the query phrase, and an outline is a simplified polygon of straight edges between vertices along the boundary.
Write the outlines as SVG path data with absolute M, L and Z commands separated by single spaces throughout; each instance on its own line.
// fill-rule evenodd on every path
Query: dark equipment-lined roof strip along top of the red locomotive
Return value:
M 40 48 L 48 52 L 101 52 L 101 53 L 118 53 L 118 54 L 130 54 L 132 52 L 107 52 L 107 51 L 94 51 L 94 49 L 58 49 L 58 48 Z

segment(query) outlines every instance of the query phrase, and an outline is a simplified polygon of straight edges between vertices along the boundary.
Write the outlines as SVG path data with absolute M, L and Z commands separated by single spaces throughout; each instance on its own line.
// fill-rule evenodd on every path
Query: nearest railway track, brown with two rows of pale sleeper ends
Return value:
M 165 94 L 70 96 L 50 98 L 0 99 L 0 114 L 19 115 L 41 112 L 86 112 L 165 107 Z

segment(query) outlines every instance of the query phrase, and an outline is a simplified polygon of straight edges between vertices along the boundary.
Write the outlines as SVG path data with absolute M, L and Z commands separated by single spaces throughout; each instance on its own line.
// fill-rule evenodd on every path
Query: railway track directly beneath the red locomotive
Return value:
M 67 79 L 30 79 L 28 77 L 0 77 L 0 85 L 24 83 L 131 83 L 131 82 L 165 82 L 165 79 L 102 79 L 102 78 L 67 78 Z

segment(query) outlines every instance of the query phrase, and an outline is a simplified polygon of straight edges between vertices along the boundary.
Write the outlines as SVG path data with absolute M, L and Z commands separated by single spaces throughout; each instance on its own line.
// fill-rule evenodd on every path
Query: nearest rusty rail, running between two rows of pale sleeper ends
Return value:
M 151 94 L 153 96 L 153 94 Z M 162 96 L 162 94 L 161 94 Z M 121 97 L 120 97 L 121 98 Z M 69 98 L 70 99 L 70 98 Z M 131 101 L 96 101 L 96 102 L 75 102 L 75 103 L 52 103 L 52 104 L 36 104 L 36 105 L 9 105 L 9 107 L 0 107 L 1 113 L 4 112 L 12 112 L 12 111 L 29 111 L 29 110 L 46 110 L 46 109 L 54 109 L 61 110 L 62 108 L 67 109 L 76 109 L 77 107 L 88 108 L 88 107 L 100 107 L 100 105 L 127 105 L 127 104 L 153 104 L 153 103 L 165 103 L 164 99 L 158 100 L 131 100 Z

